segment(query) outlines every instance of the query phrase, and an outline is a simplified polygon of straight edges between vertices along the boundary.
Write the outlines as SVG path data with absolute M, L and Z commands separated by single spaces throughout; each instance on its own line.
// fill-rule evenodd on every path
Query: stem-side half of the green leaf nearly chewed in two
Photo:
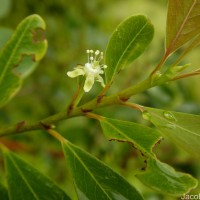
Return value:
M 155 129 L 105 117 L 101 117 L 100 123 L 108 140 L 131 142 L 143 154 L 154 157 L 152 148 L 161 139 Z

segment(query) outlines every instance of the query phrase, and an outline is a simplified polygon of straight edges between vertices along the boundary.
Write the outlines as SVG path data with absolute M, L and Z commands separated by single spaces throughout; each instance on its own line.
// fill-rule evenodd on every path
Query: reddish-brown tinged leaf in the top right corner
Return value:
M 168 54 L 200 34 L 200 0 L 169 0 L 166 31 Z

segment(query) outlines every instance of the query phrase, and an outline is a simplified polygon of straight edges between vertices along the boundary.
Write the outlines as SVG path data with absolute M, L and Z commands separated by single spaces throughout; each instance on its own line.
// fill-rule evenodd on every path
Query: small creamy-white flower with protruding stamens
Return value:
M 104 80 L 101 77 L 104 74 L 104 69 L 107 67 L 104 64 L 100 65 L 100 61 L 103 59 L 103 52 L 96 50 L 87 50 L 88 54 L 88 62 L 82 66 L 77 65 L 73 71 L 67 72 L 67 75 L 71 78 L 77 76 L 85 76 L 85 83 L 84 83 L 84 91 L 89 92 L 94 84 L 94 81 L 98 81 L 101 83 L 102 87 L 105 87 Z

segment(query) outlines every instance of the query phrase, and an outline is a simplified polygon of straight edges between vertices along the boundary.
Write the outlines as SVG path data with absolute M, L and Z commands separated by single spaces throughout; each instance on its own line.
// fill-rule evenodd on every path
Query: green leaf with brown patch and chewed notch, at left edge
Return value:
M 0 51 L 0 107 L 7 103 L 20 89 L 22 78 L 34 67 L 27 62 L 26 68 L 17 71 L 16 66 L 23 62 L 24 56 L 39 61 L 47 49 L 44 38 L 45 23 L 38 15 L 25 18 Z M 14 70 L 15 68 L 15 70 Z

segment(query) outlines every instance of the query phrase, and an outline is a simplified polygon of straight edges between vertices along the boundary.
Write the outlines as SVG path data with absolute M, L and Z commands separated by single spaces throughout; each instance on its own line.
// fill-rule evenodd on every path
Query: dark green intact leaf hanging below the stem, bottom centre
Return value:
M 104 163 L 66 140 L 62 145 L 79 199 L 143 199 L 133 186 Z

